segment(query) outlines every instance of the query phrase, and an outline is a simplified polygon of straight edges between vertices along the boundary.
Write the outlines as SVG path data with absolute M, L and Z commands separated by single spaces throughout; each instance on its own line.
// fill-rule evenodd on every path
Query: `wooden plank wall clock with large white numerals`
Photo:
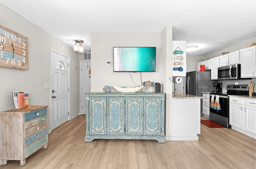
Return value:
M 28 37 L 1 25 L 0 67 L 28 70 Z

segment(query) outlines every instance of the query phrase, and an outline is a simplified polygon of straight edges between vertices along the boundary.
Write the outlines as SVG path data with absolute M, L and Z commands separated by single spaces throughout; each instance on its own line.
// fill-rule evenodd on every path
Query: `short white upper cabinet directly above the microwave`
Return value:
M 220 67 L 240 63 L 240 51 L 235 51 L 220 56 Z

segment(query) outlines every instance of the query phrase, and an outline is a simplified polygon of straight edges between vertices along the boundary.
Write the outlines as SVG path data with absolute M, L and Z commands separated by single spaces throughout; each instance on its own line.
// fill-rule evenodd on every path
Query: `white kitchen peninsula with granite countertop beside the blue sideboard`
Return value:
M 198 140 L 201 98 L 183 93 L 172 94 L 172 117 L 168 120 L 172 128 L 166 129 L 166 141 Z

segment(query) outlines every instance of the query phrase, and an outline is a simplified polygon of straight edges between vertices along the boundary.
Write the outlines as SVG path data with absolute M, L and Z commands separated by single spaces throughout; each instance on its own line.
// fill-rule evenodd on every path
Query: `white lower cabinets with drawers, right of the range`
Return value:
M 229 97 L 229 123 L 233 130 L 256 138 L 256 99 Z

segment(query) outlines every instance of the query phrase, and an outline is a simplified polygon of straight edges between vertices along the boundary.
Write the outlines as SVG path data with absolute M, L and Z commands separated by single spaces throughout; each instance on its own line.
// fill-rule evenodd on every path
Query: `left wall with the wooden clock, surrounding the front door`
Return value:
M 78 53 L 38 28 L 25 18 L 0 4 L 0 24 L 28 37 L 29 70 L 0 67 L 0 112 L 14 108 L 13 90 L 31 93 L 31 105 L 50 106 L 50 89 L 44 89 L 44 83 L 50 83 L 50 48 L 70 57 L 70 116 L 78 115 Z

